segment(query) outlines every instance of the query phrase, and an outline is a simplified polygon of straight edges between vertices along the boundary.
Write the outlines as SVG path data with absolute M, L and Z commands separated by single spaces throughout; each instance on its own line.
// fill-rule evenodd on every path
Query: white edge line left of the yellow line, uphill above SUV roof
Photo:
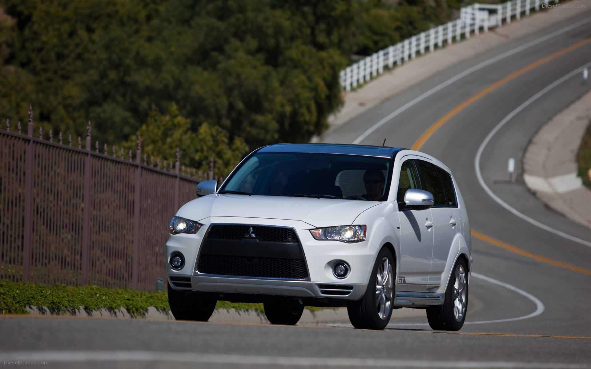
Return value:
M 382 118 L 378 123 L 375 123 L 373 126 L 371 126 L 368 130 L 366 130 L 365 132 L 363 132 L 361 134 L 361 136 L 359 136 L 358 138 L 355 139 L 355 141 L 353 141 L 353 143 L 361 143 L 361 141 L 363 141 L 363 139 L 365 139 L 367 136 L 369 136 L 372 132 L 374 132 L 376 129 L 380 128 L 381 126 L 383 126 L 385 123 L 387 123 L 389 120 L 391 120 L 392 118 L 394 118 L 395 116 L 399 115 L 400 113 L 404 112 L 405 110 L 407 110 L 409 107 L 421 102 L 422 100 L 426 99 L 427 97 L 431 96 L 432 94 L 436 93 L 437 91 L 443 89 L 444 87 L 449 86 L 450 84 L 454 83 L 455 81 L 462 79 L 463 77 L 466 77 L 467 75 L 482 69 L 486 66 L 491 65 L 492 63 L 495 63 L 496 61 L 502 60 L 506 57 L 509 57 L 513 54 L 519 53 L 519 51 L 523 51 L 527 48 L 530 48 L 534 45 L 537 45 L 539 43 L 543 43 L 546 40 L 549 40 L 550 38 L 553 38 L 557 35 L 560 35 L 564 32 L 570 31 L 573 28 L 577 28 L 580 25 L 586 24 L 588 22 L 591 22 L 591 18 L 587 18 L 587 19 L 583 19 L 582 21 L 573 23 L 567 27 L 561 28 L 558 31 L 552 32 L 551 34 L 545 35 L 544 37 L 538 38 L 537 40 L 531 41 L 527 44 L 521 45 L 520 47 L 514 48 L 512 50 L 507 51 L 506 53 L 503 53 L 501 55 L 497 55 L 496 57 L 490 58 L 489 60 L 483 61 L 482 63 L 478 64 L 477 66 L 473 66 L 472 68 L 466 69 L 465 71 L 463 71 L 462 73 L 458 74 L 455 77 L 452 77 L 451 79 L 439 84 L 439 86 L 433 87 L 433 89 L 428 90 L 426 93 L 422 94 L 421 96 L 415 97 L 415 99 L 411 100 L 410 102 L 402 105 L 401 107 L 399 107 L 398 109 L 394 110 L 394 112 L 390 113 L 388 116 Z

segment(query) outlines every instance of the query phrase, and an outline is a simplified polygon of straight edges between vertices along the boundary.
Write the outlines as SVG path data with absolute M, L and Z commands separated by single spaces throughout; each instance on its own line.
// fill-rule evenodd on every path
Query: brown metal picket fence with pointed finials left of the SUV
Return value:
M 0 279 L 155 290 L 168 223 L 195 197 L 197 172 L 0 130 Z M 202 177 L 203 174 L 199 174 Z M 213 179 L 213 161 L 209 172 Z

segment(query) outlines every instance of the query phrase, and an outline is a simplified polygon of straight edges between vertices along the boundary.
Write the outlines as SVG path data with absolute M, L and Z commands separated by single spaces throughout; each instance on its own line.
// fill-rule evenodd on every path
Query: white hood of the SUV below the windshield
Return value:
M 178 217 L 200 221 L 207 217 L 300 220 L 313 227 L 352 224 L 377 201 L 259 195 L 207 195 L 183 205 Z

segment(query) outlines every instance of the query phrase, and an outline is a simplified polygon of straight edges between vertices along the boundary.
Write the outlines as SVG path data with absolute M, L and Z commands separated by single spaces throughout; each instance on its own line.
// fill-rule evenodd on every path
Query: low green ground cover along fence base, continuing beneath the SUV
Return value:
M 145 316 L 148 308 L 154 306 L 158 311 L 170 311 L 166 292 L 141 292 L 131 289 L 110 289 L 97 286 L 47 287 L 33 282 L 11 282 L 0 280 L 0 311 L 2 314 L 28 314 L 27 308 L 45 308 L 51 314 L 67 312 L 86 313 L 106 309 L 116 311 L 125 309 L 132 316 Z M 235 303 L 218 301 L 216 309 L 236 309 L 264 313 L 262 303 Z M 310 311 L 323 308 L 307 306 Z

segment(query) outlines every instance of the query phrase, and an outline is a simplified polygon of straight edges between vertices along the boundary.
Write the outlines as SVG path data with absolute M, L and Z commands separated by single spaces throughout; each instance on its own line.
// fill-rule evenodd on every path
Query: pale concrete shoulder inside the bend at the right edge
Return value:
M 523 178 L 530 191 L 587 228 L 591 228 L 591 190 L 576 175 L 576 155 L 590 120 L 591 91 L 545 123 L 523 158 Z

